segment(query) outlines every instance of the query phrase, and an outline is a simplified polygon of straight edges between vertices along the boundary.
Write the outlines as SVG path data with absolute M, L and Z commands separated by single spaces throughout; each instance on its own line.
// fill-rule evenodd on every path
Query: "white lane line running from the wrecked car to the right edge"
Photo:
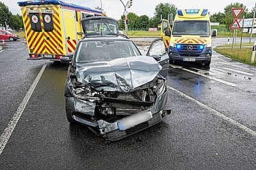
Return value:
M 188 95 L 182 93 L 181 91 L 175 89 L 175 88 L 172 88 L 170 86 L 167 87 L 168 89 L 171 89 L 172 91 L 175 91 L 176 93 L 178 93 L 180 96 L 184 97 L 184 98 L 187 98 L 188 100 L 191 100 L 193 102 L 195 102 L 196 104 L 200 105 L 201 107 L 204 107 L 205 109 L 211 111 L 215 116 L 218 116 L 219 118 L 225 120 L 225 121 L 228 121 L 229 123 L 231 123 L 232 125 L 235 125 L 236 127 L 238 128 L 241 128 L 242 130 L 244 130 L 245 132 L 247 132 L 248 134 L 251 134 L 253 135 L 254 137 L 256 137 L 256 132 L 244 125 L 242 125 L 241 123 L 237 122 L 236 120 L 233 120 L 232 118 L 229 118 L 228 116 L 225 116 L 224 114 L 222 114 L 221 112 L 219 111 L 216 111 L 215 109 L 212 109 L 212 107 L 209 107 L 201 102 L 199 102 L 198 100 L 195 100 L 194 98 L 192 97 L 189 97 Z

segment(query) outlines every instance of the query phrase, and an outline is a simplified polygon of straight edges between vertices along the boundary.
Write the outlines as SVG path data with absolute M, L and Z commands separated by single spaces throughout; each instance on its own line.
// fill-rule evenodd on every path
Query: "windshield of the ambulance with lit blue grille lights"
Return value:
M 177 20 L 173 26 L 173 35 L 210 35 L 207 20 Z

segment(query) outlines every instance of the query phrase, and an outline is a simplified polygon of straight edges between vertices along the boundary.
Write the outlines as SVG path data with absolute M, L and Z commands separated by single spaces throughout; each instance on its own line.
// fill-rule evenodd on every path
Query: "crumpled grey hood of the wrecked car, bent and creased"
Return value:
M 97 91 L 131 92 L 153 81 L 162 69 L 148 56 L 119 58 L 111 61 L 77 64 L 77 81 Z

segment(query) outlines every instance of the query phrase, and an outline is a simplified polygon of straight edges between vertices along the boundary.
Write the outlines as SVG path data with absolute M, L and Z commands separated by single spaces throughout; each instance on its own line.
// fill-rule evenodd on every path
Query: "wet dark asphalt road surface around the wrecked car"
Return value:
M 224 39 L 214 39 L 213 44 Z M 256 68 L 217 53 L 211 68 L 170 65 L 163 123 L 106 143 L 65 118 L 67 66 L 26 61 L 21 42 L 0 53 L 0 134 L 47 63 L 3 153 L 0 169 L 256 169 Z M 19 46 L 20 45 L 20 46 Z M 191 100 L 191 98 L 195 100 Z

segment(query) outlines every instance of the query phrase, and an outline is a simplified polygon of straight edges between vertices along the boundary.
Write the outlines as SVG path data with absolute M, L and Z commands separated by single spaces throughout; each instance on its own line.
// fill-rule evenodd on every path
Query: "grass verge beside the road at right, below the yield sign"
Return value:
M 252 49 L 215 48 L 214 50 L 224 56 L 227 56 L 228 58 L 232 58 L 236 61 L 246 63 L 248 65 L 256 66 L 256 61 L 251 63 Z

